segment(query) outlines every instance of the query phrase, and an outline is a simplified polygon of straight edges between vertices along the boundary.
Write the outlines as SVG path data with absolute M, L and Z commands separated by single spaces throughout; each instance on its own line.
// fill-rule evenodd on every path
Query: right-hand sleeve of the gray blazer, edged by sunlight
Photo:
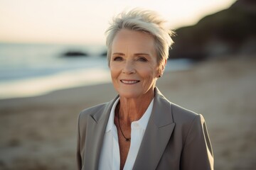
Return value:
M 213 169 L 213 149 L 202 115 L 193 119 L 181 154 L 181 169 Z

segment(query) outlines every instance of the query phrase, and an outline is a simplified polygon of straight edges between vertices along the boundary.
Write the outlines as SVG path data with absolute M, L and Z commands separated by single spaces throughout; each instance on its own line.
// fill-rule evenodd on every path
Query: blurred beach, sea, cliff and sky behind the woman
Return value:
M 252 0 L 0 0 L 0 169 L 76 168 L 78 114 L 116 95 L 105 30 L 134 7 L 176 32 L 157 86 L 206 118 L 215 169 L 255 169 Z

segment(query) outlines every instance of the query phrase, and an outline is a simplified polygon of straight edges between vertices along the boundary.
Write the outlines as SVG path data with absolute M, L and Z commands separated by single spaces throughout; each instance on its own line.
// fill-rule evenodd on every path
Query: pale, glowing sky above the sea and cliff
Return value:
M 111 18 L 134 7 L 157 11 L 172 29 L 195 24 L 235 0 L 0 0 L 0 42 L 104 44 Z

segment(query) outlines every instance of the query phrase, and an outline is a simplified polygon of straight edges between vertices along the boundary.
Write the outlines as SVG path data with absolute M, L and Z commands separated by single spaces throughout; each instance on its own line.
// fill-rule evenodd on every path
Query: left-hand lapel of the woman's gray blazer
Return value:
M 87 138 L 85 142 L 85 164 L 83 169 L 98 169 L 107 121 L 112 105 L 117 97 L 110 101 L 102 111 L 92 113 L 88 118 Z

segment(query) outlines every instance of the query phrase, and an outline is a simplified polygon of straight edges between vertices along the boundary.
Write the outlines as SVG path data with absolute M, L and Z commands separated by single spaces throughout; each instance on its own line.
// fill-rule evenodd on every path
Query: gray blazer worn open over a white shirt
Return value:
M 105 128 L 116 99 L 80 113 L 78 169 L 98 169 Z M 213 169 L 213 150 L 203 116 L 169 102 L 156 88 L 133 169 Z

